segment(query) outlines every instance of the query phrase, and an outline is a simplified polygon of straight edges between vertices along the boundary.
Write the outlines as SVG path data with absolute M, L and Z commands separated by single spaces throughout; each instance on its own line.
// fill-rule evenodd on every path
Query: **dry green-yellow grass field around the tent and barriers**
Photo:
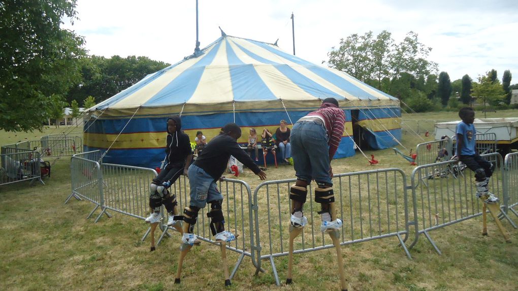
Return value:
M 516 116 L 514 111 L 488 113 L 487 117 Z M 481 116 L 477 116 L 481 117 Z M 405 114 L 405 120 L 457 119 L 453 112 Z M 0 132 L 0 145 L 41 135 L 71 131 L 66 127 L 44 133 Z M 74 130 L 75 131 L 75 130 Z M 16 136 L 15 136 L 16 135 Z M 421 137 L 430 140 L 432 137 Z M 420 137 L 405 134 L 401 151 L 415 148 Z M 361 155 L 333 160 L 334 173 L 397 167 L 410 175 L 413 166 L 392 150 L 367 151 L 379 164 L 370 166 Z M 155 252 L 149 241 L 140 242 L 147 225 L 141 220 L 115 214 L 98 223 L 84 218 L 92 204 L 72 200 L 69 157 L 51 160 L 52 176 L 46 185 L 27 182 L 0 187 L 0 289 L 129 289 L 129 290 L 221 290 L 219 248 L 208 243 L 193 248 L 182 272 L 182 284 L 174 285 L 179 255 L 179 236 L 165 239 Z M 293 178 L 292 167 L 268 167 L 268 180 Z M 240 176 L 254 189 L 260 182 L 249 170 Z M 97 212 L 98 213 L 98 212 Z M 316 213 L 313 213 L 316 215 Z M 516 230 L 503 222 L 512 243 L 505 243 L 489 219 L 488 237 L 480 235 L 481 218 L 430 233 L 443 255 L 438 255 L 421 237 L 406 258 L 393 238 L 342 247 L 350 290 L 517 290 L 518 245 Z M 158 233 L 158 232 L 157 232 Z M 263 246 L 265 248 L 265 246 Z M 229 265 L 238 255 L 227 252 Z M 255 268 L 245 257 L 230 290 L 338 290 L 334 249 L 295 255 L 294 284 L 275 286 L 268 262 L 266 273 L 254 276 Z M 285 280 L 287 257 L 276 259 L 281 282 Z

